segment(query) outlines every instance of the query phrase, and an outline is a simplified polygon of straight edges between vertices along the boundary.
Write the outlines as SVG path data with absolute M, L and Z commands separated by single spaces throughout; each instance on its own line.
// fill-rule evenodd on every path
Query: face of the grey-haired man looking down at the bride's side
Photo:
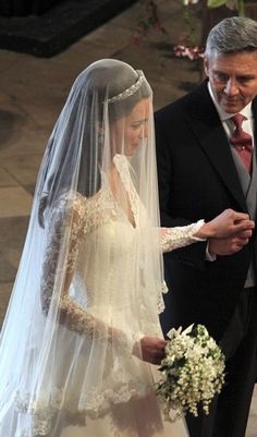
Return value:
M 257 95 L 257 50 L 205 59 L 205 72 L 221 108 L 240 112 Z

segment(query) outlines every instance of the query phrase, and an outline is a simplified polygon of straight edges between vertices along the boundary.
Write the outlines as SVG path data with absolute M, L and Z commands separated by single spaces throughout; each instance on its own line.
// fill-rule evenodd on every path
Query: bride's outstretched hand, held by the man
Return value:
M 224 239 L 231 235 L 241 234 L 249 239 L 253 233 L 255 222 L 249 220 L 248 214 L 236 213 L 233 209 L 225 209 L 213 220 L 203 224 L 195 234 L 200 239 Z

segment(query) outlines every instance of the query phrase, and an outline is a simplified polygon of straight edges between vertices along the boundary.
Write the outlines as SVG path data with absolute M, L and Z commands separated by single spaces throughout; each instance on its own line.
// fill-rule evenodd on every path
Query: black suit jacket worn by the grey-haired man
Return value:
M 256 126 L 257 99 L 253 111 Z M 162 226 L 209 221 L 225 208 L 246 213 L 207 81 L 155 118 Z M 205 260 L 205 251 L 206 243 L 196 243 L 164 255 L 170 289 L 161 317 L 164 333 L 171 326 L 200 323 L 219 340 L 228 327 L 254 257 L 255 236 L 237 254 L 218 256 L 213 263 Z

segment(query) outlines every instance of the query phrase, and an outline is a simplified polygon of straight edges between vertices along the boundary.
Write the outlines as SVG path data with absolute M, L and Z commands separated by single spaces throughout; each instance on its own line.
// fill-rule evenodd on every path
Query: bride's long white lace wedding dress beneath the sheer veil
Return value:
M 90 199 L 75 195 L 72 203 L 73 245 L 66 266 L 72 280 L 59 302 L 61 311 L 69 315 L 70 326 L 56 328 L 54 353 L 49 353 L 45 363 L 40 390 L 37 390 L 33 406 L 27 402 L 30 375 L 19 388 L 15 409 L 20 413 L 16 433 L 12 437 L 188 436 L 183 420 L 170 423 L 161 415 L 155 396 L 158 367 L 132 355 L 134 342 L 144 335 L 162 337 L 157 309 L 158 306 L 162 309 L 162 284 L 156 282 L 155 266 L 148 263 L 144 253 L 144 238 L 137 227 L 139 215 L 142 223 L 144 213 L 130 178 L 127 161 L 118 155 L 114 163 L 128 193 L 134 223 L 124 215 L 108 187 L 102 187 Z M 61 221 L 64 204 L 65 197 L 53 208 L 52 223 L 58 223 L 58 217 Z M 145 220 L 147 224 L 147 217 Z M 195 242 L 194 234 L 201 223 L 159 229 L 162 250 L 167 252 Z M 57 228 L 51 226 L 48 232 L 41 283 L 42 307 L 48 307 L 51 301 L 54 281 L 51 265 L 59 247 Z M 101 242 L 98 251 L 96 241 Z M 143 247 L 139 258 L 135 259 L 138 244 Z M 107 257 L 107 254 L 111 256 Z M 107 258 L 110 262 L 106 263 Z M 147 271 L 144 265 L 148 266 Z M 139 286 L 135 284 L 133 274 L 138 268 Z M 110 340 L 108 331 L 102 335 L 102 324 L 123 333 L 112 336 Z M 36 351 L 33 351 L 32 360 L 35 355 Z M 10 414 L 14 414 L 13 406 Z M 59 426 L 53 428 L 56 416 L 59 416 Z M 33 433 L 29 421 L 34 421 Z M 27 424 L 29 432 L 26 430 Z M 0 435 L 9 436 L 8 414 L 1 423 L 0 413 Z

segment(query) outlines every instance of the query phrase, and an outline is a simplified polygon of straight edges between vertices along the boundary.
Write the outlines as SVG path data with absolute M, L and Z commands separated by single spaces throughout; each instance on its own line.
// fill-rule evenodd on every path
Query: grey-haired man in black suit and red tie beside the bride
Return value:
M 210 220 L 225 208 L 256 220 L 257 22 L 230 17 L 215 26 L 205 71 L 203 84 L 156 113 L 162 226 Z M 243 122 L 236 128 L 237 113 Z M 248 153 L 246 168 L 242 155 Z M 227 384 L 210 414 L 187 417 L 192 437 L 245 436 L 257 374 L 257 241 L 254 233 L 225 256 L 230 245 L 240 248 L 240 236 L 210 239 L 164 257 L 170 292 L 163 332 L 203 324 L 227 356 Z

